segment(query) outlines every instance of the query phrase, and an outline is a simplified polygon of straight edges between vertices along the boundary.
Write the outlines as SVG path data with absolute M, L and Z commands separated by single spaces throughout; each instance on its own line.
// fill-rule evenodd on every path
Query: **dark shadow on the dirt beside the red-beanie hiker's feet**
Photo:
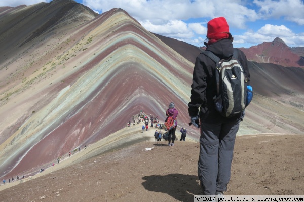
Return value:
M 167 193 L 180 201 L 193 201 L 194 195 L 203 195 L 198 176 L 184 174 L 151 175 L 142 178 L 146 190 Z

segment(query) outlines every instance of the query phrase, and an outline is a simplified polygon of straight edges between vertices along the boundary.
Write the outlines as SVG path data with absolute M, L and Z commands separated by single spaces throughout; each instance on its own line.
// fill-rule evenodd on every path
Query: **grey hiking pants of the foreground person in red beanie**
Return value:
M 201 123 L 198 176 L 204 195 L 226 191 L 240 122 Z

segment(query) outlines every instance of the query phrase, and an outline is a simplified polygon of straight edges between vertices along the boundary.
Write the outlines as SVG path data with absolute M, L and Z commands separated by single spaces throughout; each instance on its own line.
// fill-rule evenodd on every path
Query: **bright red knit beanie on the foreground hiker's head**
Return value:
M 223 39 L 229 38 L 229 34 L 224 32 L 229 32 L 229 26 L 224 17 L 214 18 L 210 20 L 207 24 L 207 38 L 209 39 Z

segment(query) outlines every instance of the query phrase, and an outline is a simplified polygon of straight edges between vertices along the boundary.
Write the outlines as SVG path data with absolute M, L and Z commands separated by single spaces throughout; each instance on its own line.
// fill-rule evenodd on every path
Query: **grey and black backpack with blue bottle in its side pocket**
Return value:
M 224 117 L 242 114 L 253 94 L 251 86 L 247 85 L 244 68 L 238 60 L 237 49 L 234 49 L 233 55 L 227 60 L 220 59 L 211 51 L 204 51 L 203 54 L 216 63 L 217 92 L 213 97 L 216 111 Z

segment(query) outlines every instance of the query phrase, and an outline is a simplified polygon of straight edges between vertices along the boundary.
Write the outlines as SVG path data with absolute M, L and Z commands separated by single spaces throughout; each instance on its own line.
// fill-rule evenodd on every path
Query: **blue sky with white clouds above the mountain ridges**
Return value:
M 0 0 L 0 6 L 32 5 L 50 0 Z M 235 47 L 249 48 L 281 38 L 304 47 L 304 0 L 77 0 L 101 14 L 122 8 L 148 31 L 203 46 L 207 22 L 226 18 Z

